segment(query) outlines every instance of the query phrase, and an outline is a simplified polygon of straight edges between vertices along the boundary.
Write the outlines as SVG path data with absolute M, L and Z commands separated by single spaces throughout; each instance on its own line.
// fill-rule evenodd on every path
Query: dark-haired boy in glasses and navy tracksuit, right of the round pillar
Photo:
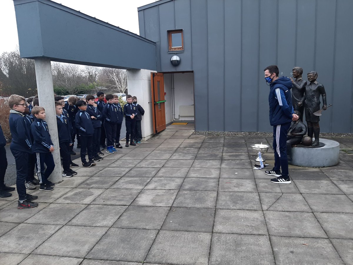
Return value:
M 91 117 L 86 112 L 87 104 L 83 100 L 76 102 L 76 107 L 79 111 L 76 113 L 75 124 L 77 133 L 80 135 L 81 142 L 81 161 L 82 166 L 90 167 L 95 166 L 98 159 L 93 157 L 93 147 L 92 147 L 92 138 L 93 138 L 93 125 Z M 88 162 L 86 161 L 86 151 L 88 152 Z

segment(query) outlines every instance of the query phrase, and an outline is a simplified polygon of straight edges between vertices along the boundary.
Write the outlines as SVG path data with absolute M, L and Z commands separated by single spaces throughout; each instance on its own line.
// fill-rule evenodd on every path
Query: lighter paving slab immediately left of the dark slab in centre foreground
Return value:
M 169 212 L 169 207 L 129 206 L 116 220 L 113 227 L 160 229 Z

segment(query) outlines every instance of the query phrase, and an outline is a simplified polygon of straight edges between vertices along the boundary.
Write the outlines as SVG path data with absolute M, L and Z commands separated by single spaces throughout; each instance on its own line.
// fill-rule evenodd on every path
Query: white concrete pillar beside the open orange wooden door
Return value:
M 127 91 L 128 94 L 137 97 L 137 102 L 145 110 L 142 116 L 141 130 L 142 140 L 147 140 L 152 137 L 152 101 L 151 97 L 151 70 L 137 69 L 127 70 Z

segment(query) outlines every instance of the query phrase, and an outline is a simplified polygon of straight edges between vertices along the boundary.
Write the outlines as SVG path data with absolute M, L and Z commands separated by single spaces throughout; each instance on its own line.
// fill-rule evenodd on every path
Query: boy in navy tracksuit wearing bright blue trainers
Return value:
M 117 152 L 114 148 L 114 140 L 116 136 L 116 123 L 118 122 L 118 107 L 114 104 L 113 94 L 106 95 L 107 104 L 103 108 L 104 128 L 107 137 L 107 153 Z

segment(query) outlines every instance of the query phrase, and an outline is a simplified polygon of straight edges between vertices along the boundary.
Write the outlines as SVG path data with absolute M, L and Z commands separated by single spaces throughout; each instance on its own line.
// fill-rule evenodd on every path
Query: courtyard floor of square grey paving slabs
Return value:
M 252 169 L 250 145 L 272 137 L 191 134 L 106 154 L 32 191 L 36 208 L 0 199 L 0 264 L 353 264 L 353 138 L 333 139 L 338 165 L 289 166 L 280 185 Z

